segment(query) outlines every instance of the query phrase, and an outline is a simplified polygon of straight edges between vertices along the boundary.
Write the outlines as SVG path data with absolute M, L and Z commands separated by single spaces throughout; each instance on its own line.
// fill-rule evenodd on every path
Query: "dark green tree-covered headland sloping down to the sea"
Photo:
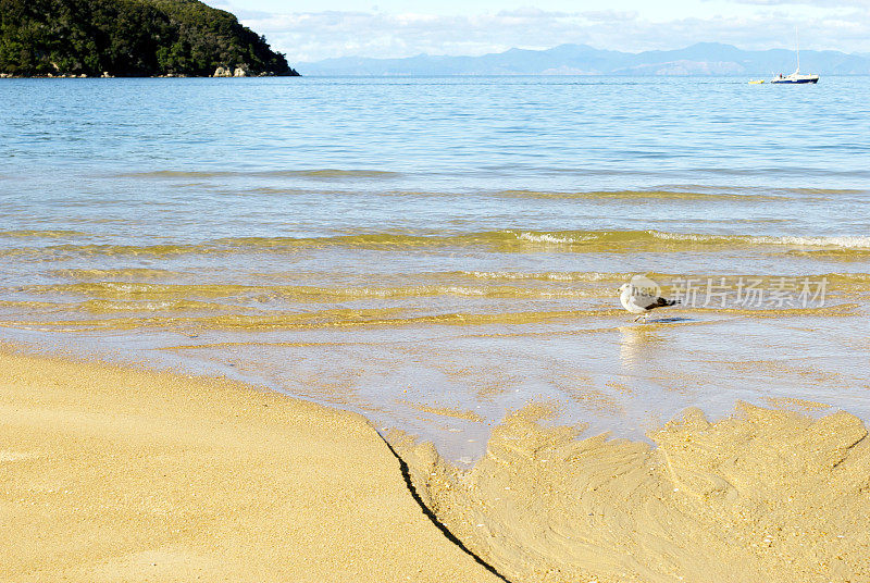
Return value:
M 0 73 L 295 75 L 231 13 L 198 0 L 0 0 Z

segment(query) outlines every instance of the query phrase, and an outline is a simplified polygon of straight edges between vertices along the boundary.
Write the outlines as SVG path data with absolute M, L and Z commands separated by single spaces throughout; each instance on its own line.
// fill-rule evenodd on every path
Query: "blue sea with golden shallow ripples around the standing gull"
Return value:
M 736 399 L 868 420 L 867 80 L 3 79 L 0 337 L 455 459 L 530 400 L 633 437 Z M 636 273 L 684 305 L 634 323 Z

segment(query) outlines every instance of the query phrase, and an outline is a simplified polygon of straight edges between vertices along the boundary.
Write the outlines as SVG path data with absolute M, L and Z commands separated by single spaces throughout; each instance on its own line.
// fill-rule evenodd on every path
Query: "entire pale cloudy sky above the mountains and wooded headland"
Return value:
M 290 63 L 485 54 L 566 42 L 639 52 L 724 42 L 870 53 L 870 0 L 206 0 Z

